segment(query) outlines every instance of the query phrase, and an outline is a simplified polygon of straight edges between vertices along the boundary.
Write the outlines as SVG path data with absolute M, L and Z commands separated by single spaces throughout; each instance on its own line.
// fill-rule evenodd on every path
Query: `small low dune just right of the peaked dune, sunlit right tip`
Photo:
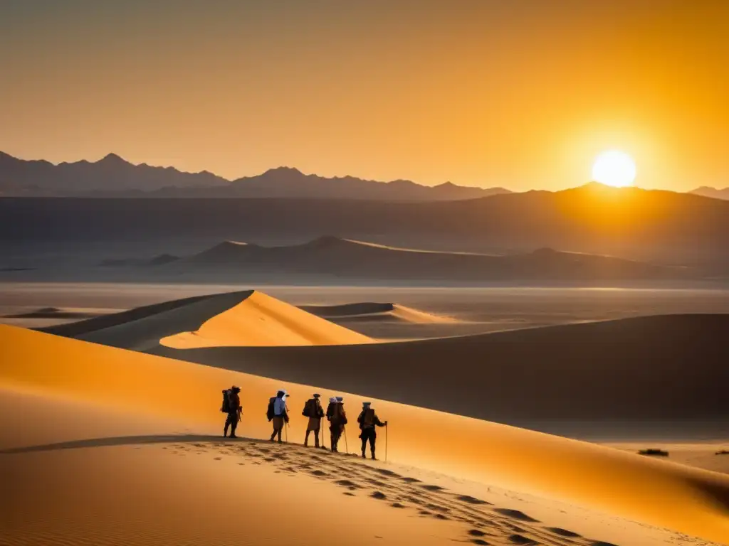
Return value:
M 455 324 L 452 317 L 427 313 L 399 304 L 362 302 L 343 305 L 302 305 L 304 311 L 335 322 L 359 322 L 364 320 L 395 321 L 413 324 Z

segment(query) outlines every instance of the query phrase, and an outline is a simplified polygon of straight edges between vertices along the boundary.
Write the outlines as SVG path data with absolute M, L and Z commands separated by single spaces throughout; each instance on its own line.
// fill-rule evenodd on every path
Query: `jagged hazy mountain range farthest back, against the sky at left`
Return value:
M 278 167 L 256 176 L 228 181 L 203 171 L 183 173 L 174 167 L 133 165 L 116 154 L 97 162 L 53 165 L 26 161 L 0 152 L 0 196 L 3 197 L 297 197 L 311 199 L 374 199 L 448 201 L 507 193 L 504 188 L 475 188 L 445 182 L 421 186 L 408 180 L 377 182 L 345 176 L 305 175 Z

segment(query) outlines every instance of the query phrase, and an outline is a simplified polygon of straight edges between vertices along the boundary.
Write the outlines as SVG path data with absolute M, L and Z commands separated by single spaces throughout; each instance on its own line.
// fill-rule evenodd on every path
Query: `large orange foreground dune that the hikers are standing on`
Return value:
M 209 438 L 160 438 L 171 432 L 217 432 L 222 424 L 217 411 L 220 388 L 232 383 L 242 387 L 242 432 L 262 438 L 268 432 L 262 414 L 270 393 L 281 386 L 278 381 L 9 326 L 0 326 L 0 347 L 0 400 L 4 408 L 4 451 L 0 457 L 1 467 L 7 469 L 4 484 L 11 491 L 9 496 L 2 497 L 4 503 L 10 500 L 2 513 L 12 509 L 13 537 L 29 537 L 15 544 L 43 542 L 39 538 L 57 543 L 59 535 L 66 542 L 78 544 L 111 544 L 120 539 L 130 544 L 164 539 L 195 542 L 191 539 L 195 533 L 200 543 L 227 544 L 231 540 L 221 538 L 221 529 L 229 531 L 224 524 L 227 518 L 228 523 L 230 518 L 241 521 L 241 529 L 254 543 L 261 543 L 263 537 L 270 539 L 275 532 L 272 527 L 283 534 L 325 527 L 330 532 L 343 533 L 337 536 L 351 544 L 375 542 L 373 535 L 380 534 L 381 529 L 382 534 L 387 534 L 387 542 L 399 544 L 432 544 L 436 537 L 441 542 L 469 540 L 477 536 L 470 531 L 483 533 L 483 542 L 504 545 L 516 540 L 564 544 L 568 535 L 560 531 L 572 533 L 569 536 L 578 545 L 596 544 L 598 540 L 617 543 L 618 535 L 621 540 L 628 540 L 626 544 L 645 545 L 667 544 L 669 539 L 677 538 L 666 537 L 665 542 L 656 542 L 657 534 L 652 534 L 651 539 L 647 534 L 663 533 L 665 537 L 665 531 L 630 527 L 623 520 L 613 521 L 607 516 L 599 526 L 604 534 L 595 535 L 592 533 L 598 527 L 585 530 L 589 518 L 580 523 L 580 510 L 587 508 L 706 540 L 729 539 L 729 477 L 725 475 L 381 400 L 374 403 L 378 413 L 391 424 L 391 459 L 430 472 L 457 472 L 459 481 L 448 482 L 445 488 L 441 484 L 426 488 L 425 481 L 422 487 L 400 488 L 395 482 L 408 475 L 397 469 L 405 467 L 391 466 L 395 471 L 387 472 L 379 465 L 351 467 L 354 459 L 347 463 L 348 458 L 340 456 L 332 459 L 336 461 L 333 466 L 322 463 L 324 466 L 316 469 L 319 461 L 310 458 L 309 470 L 321 470 L 324 480 L 338 474 L 338 480 L 351 480 L 354 489 L 347 492 L 355 495 L 356 502 L 345 504 L 349 500 L 341 494 L 342 490 L 329 495 L 324 493 L 324 486 L 312 489 L 309 478 L 301 475 L 305 470 L 300 466 L 300 458 L 305 456 L 302 451 L 281 451 L 278 446 L 276 451 L 269 451 L 270 463 L 282 471 L 276 475 L 266 470 L 269 467 L 263 463 L 269 462 L 269 456 L 254 443 L 217 447 Z M 305 423 L 297 417 L 296 406 L 303 404 L 313 387 L 286 387 L 292 395 L 289 405 L 293 406 L 295 416 L 288 433 L 290 438 L 302 438 Z M 324 395 L 327 394 L 325 391 Z M 349 410 L 356 411 L 362 397 L 346 393 L 344 396 Z M 61 399 L 56 401 L 56 397 Z M 5 411 L 7 408 L 15 411 Z M 22 423 L 10 419 L 18 410 L 23 414 Z M 61 422 L 69 429 L 45 426 L 41 416 L 46 415 L 51 423 Z M 120 438 L 125 435 L 133 438 Z M 145 441 L 140 435 L 153 438 Z M 350 427 L 350 444 L 354 443 L 353 437 Z M 125 447 L 165 441 L 176 447 L 174 451 L 179 448 L 182 452 L 173 455 L 163 454 L 157 447 Z M 57 445 L 38 445 L 50 443 Z M 198 443 L 200 446 L 195 445 Z M 216 461 L 218 467 L 210 460 L 215 459 L 211 457 L 214 450 L 221 451 L 216 455 L 221 459 Z M 309 453 L 313 456 L 316 452 Z M 227 462 L 231 455 L 241 456 L 238 462 L 243 462 L 244 467 L 223 467 L 223 459 Z M 255 462 L 262 464 L 255 465 L 254 470 Z M 284 467 L 296 470 L 291 472 L 295 477 L 288 478 Z M 378 472 L 379 478 L 371 478 L 368 473 L 372 469 L 383 472 Z M 464 491 L 464 479 L 483 485 Z M 418 486 L 418 482 L 410 482 L 413 483 Z M 577 515 L 576 526 L 565 527 L 557 520 L 547 520 L 542 515 L 544 506 L 537 502 L 527 505 L 514 496 L 503 496 L 498 504 L 479 503 L 479 499 L 494 502 L 492 497 L 474 494 L 488 494 L 488 485 L 520 491 L 517 497 L 547 495 L 569 502 L 570 507 L 565 510 L 566 505 L 561 505 L 561 510 L 572 510 Z M 203 491 L 206 494 L 201 494 Z M 415 491 L 428 492 L 428 496 L 418 498 Z M 368 498 L 375 493 L 379 496 Z M 37 506 L 39 494 L 46 499 L 42 510 Z M 238 502 L 231 503 L 230 495 Z M 401 500 L 397 503 L 403 506 L 399 510 L 392 510 L 386 502 L 376 502 L 378 498 L 394 501 L 398 495 Z M 308 506 L 305 499 L 312 498 L 322 503 L 324 513 L 336 514 L 334 518 L 321 518 L 321 527 L 311 521 L 307 510 L 295 509 Z M 433 502 L 436 498 L 440 500 Z M 422 509 L 418 502 L 432 505 L 424 509 L 428 515 L 418 513 Z M 233 508 L 226 508 L 225 503 Z M 278 518 L 271 515 L 274 506 L 286 513 L 288 517 L 282 518 L 286 523 L 278 523 Z M 527 506 L 539 513 L 531 512 Z M 551 514 L 557 512 L 553 510 Z M 439 513 L 447 520 L 432 517 Z M 413 515 L 424 516 L 422 526 Z M 125 524 L 121 524 L 120 518 Z M 349 531 L 341 522 L 346 522 Z M 357 522 L 364 522 L 362 525 L 367 527 Z M 276 527 L 279 524 L 281 527 Z M 636 534 L 628 537 L 628 528 Z M 106 531 L 115 534 L 105 536 Z M 149 531 L 160 536 L 150 537 Z M 131 532 L 136 536 L 129 537 Z M 407 535 L 408 532 L 412 534 Z M 575 534 L 590 538 L 574 537 Z M 277 542 L 284 539 L 281 535 L 276 537 Z M 313 544 L 315 540 L 318 542 L 321 537 L 309 539 L 305 535 L 297 542 Z

